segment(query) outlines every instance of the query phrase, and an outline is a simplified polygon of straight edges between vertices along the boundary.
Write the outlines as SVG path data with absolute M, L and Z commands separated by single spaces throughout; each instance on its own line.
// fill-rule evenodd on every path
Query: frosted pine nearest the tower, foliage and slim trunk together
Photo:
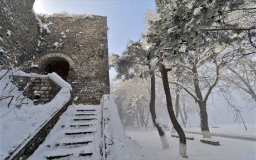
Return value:
M 169 148 L 169 142 L 166 138 L 163 125 L 157 119 L 155 112 L 155 73 L 152 68 L 152 59 L 154 54 L 150 52 L 148 46 L 141 42 L 130 42 L 121 56 L 113 54 L 110 58 L 110 67 L 114 67 L 117 74 L 116 79 L 131 79 L 135 77 L 150 78 L 150 113 L 152 121 L 155 124 L 163 149 Z

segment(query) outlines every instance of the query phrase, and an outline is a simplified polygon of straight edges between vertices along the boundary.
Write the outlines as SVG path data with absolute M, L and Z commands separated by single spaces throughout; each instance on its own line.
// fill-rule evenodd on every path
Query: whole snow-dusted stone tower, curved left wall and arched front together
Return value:
M 110 92 L 107 17 L 66 13 L 37 17 L 34 2 L 0 2 L 0 61 L 13 57 L 28 72 L 56 72 L 71 84 L 76 103 L 100 103 Z M 26 62 L 38 67 L 31 69 Z

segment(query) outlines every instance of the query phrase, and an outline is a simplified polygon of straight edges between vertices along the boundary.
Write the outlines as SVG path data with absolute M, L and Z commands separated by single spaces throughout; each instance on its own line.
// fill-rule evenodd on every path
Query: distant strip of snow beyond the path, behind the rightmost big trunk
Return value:
M 248 129 L 247 131 L 245 130 L 243 124 L 241 124 L 241 126 L 239 126 L 239 124 L 214 125 L 214 126 L 209 126 L 209 129 L 211 133 L 228 134 L 228 135 L 234 135 L 234 136 L 256 137 L 255 124 L 246 124 L 246 126 Z M 219 128 L 216 128 L 216 127 L 219 127 Z M 201 133 L 200 127 L 185 128 L 184 130 Z

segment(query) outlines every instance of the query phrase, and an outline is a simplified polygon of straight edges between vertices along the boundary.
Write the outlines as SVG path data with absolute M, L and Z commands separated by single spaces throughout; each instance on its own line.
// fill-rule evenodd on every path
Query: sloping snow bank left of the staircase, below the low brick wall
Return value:
M 0 77 L 4 73 L 6 70 L 0 71 Z M 50 103 L 35 106 L 30 99 L 22 96 L 21 91 L 18 91 L 13 83 L 9 82 L 11 74 L 12 72 L 9 71 L 0 80 L 0 98 L 14 96 L 9 107 L 11 98 L 0 100 L 0 159 L 5 159 L 9 153 L 24 145 L 24 142 L 33 137 L 40 126 L 46 123 L 71 97 L 70 89 L 64 87 Z M 22 106 L 17 107 L 19 104 Z

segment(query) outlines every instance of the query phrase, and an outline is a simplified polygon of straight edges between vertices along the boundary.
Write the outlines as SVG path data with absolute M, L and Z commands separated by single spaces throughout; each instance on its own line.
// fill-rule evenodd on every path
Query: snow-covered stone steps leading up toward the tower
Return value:
M 71 105 L 28 159 L 91 159 L 100 106 Z

